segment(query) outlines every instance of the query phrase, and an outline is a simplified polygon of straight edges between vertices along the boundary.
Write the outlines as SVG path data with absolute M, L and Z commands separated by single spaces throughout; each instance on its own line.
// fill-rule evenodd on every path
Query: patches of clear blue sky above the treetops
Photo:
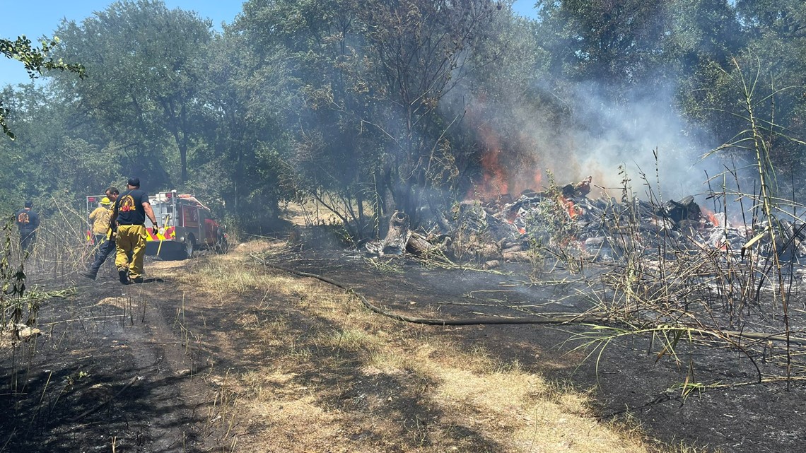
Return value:
M 513 8 L 527 17 L 534 16 L 535 0 L 516 0 Z M 104 10 L 112 0 L 39 0 L 20 2 L 19 0 L 0 0 L 0 37 L 16 39 L 26 35 L 35 41 L 42 35 L 52 36 L 62 19 L 81 20 L 91 16 L 93 11 Z M 164 0 L 168 8 L 195 10 L 203 18 L 208 18 L 213 25 L 231 23 L 241 10 L 241 0 Z M 6 84 L 27 83 L 28 78 L 23 64 L 0 56 L 0 86 Z

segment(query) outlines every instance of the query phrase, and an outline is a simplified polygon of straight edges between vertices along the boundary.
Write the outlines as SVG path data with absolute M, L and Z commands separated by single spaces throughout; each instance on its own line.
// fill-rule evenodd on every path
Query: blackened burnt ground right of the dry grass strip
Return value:
M 522 317 L 519 310 L 496 305 L 537 305 L 541 313 L 580 313 L 589 303 L 564 297 L 573 288 L 529 288 L 523 265 L 511 264 L 508 275 L 487 272 L 422 268 L 403 262 L 405 273 L 389 276 L 357 270 L 351 264 L 322 268 L 317 260 L 301 260 L 289 267 L 322 273 L 341 281 L 386 310 L 430 318 L 471 319 L 480 315 Z M 511 273 L 510 273 L 511 272 Z M 491 292 L 492 291 L 492 292 Z M 476 293 L 474 293 L 476 292 Z M 468 299 L 471 296 L 472 299 Z M 494 300 L 484 305 L 478 299 Z M 411 301 L 416 301 L 414 305 Z M 802 305 L 802 302 L 793 301 Z M 412 306 L 418 309 L 413 310 Z M 535 309 L 532 309 L 535 310 Z M 679 344 L 678 360 L 656 360 L 658 344 L 648 337 L 613 341 L 600 358 L 571 351 L 580 341 L 569 341 L 589 329 L 581 326 L 463 326 L 435 327 L 446 335 L 461 335 L 467 347 L 484 345 L 502 357 L 515 357 L 525 368 L 549 379 L 570 381 L 579 389 L 595 389 L 602 419 L 633 419 L 663 443 L 708 447 L 731 452 L 806 451 L 806 385 L 802 381 L 748 384 L 758 380 L 750 360 L 738 351 L 687 347 Z M 652 352 L 649 352 L 652 351 Z M 754 358 L 762 372 L 763 357 Z M 598 361 L 598 364 L 597 364 Z M 558 366 L 557 364 L 562 364 Z M 725 387 L 683 397 L 677 386 L 693 370 L 702 383 Z M 776 370 L 780 373 L 780 369 Z

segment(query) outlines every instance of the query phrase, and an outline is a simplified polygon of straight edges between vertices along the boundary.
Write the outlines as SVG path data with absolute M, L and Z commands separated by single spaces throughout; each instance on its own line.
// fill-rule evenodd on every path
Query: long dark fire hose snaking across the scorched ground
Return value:
M 328 283 L 330 285 L 334 285 L 335 287 L 343 289 L 347 293 L 351 293 L 355 295 L 355 297 L 358 297 L 359 301 L 361 301 L 361 304 L 364 305 L 364 307 L 366 307 L 373 313 L 380 314 L 386 318 L 396 319 L 397 321 L 411 322 L 413 324 L 425 324 L 429 326 L 476 326 L 476 325 L 518 325 L 518 324 L 549 324 L 549 325 L 603 324 L 603 325 L 615 326 L 626 324 L 625 322 L 617 318 L 591 316 L 586 314 L 559 314 L 555 316 L 543 316 L 541 318 L 537 317 L 498 318 L 493 316 L 479 316 L 475 318 L 456 318 L 456 319 L 418 318 L 381 309 L 380 307 L 373 305 L 372 302 L 368 301 L 363 294 L 358 293 L 357 291 L 355 291 L 355 289 L 352 289 L 339 281 L 335 281 L 330 277 L 321 276 L 310 272 L 297 271 L 296 269 L 292 268 L 286 268 L 285 266 L 281 266 L 279 264 L 269 263 L 266 260 L 263 260 L 255 255 L 252 255 L 251 257 L 253 260 L 256 260 L 257 262 L 263 264 L 268 268 L 275 268 L 277 270 L 287 272 L 289 274 L 293 274 L 296 276 L 314 278 L 319 281 L 324 281 L 325 283 Z M 694 328 L 693 326 L 683 326 L 683 325 L 675 327 L 679 329 Z M 775 334 L 767 334 L 764 332 L 748 332 L 743 330 L 742 331 L 714 330 L 712 335 L 717 336 L 717 333 L 718 335 L 722 335 L 725 337 L 735 337 L 737 339 L 755 339 L 755 340 L 777 341 L 784 343 L 795 343 L 800 345 L 806 345 L 806 338 L 793 337 L 790 335 L 775 335 Z M 707 332 L 701 330 L 694 330 L 692 331 L 692 334 L 708 336 Z

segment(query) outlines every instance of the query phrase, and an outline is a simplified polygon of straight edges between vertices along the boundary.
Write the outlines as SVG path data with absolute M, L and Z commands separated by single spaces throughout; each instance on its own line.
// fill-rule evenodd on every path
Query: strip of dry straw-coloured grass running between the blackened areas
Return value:
M 586 395 L 517 362 L 380 318 L 320 281 L 251 265 L 249 251 L 272 247 L 207 256 L 181 277 L 202 290 L 189 308 L 235 310 L 219 346 L 245 365 L 207 376 L 226 382 L 214 397 L 224 407 L 227 396 L 226 414 L 210 416 L 226 451 L 650 450 L 633 431 L 596 422 Z M 205 328 L 216 329 L 209 319 Z

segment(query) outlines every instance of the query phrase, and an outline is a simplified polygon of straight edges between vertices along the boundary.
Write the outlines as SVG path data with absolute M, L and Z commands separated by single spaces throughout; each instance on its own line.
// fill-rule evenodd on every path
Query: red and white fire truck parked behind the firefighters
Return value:
M 87 210 L 98 206 L 103 195 L 87 197 Z M 153 234 L 146 228 L 146 255 L 166 260 L 184 260 L 193 257 L 197 250 L 216 253 L 229 251 L 226 228 L 219 224 L 212 212 L 189 193 L 160 192 L 148 197 L 160 230 Z

